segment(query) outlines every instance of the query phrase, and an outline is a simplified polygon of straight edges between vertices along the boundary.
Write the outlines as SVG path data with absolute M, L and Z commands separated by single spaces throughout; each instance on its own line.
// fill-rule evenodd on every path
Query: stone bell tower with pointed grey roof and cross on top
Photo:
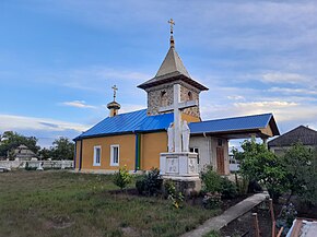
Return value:
M 169 49 L 153 79 L 138 85 L 148 93 L 148 115 L 158 115 L 160 107 L 169 106 L 174 103 L 174 84 L 180 85 L 180 100 L 198 100 L 197 107 L 186 108 L 184 114 L 200 118 L 199 94 L 208 87 L 191 79 L 180 57 L 175 50 L 173 19 L 171 24 Z

